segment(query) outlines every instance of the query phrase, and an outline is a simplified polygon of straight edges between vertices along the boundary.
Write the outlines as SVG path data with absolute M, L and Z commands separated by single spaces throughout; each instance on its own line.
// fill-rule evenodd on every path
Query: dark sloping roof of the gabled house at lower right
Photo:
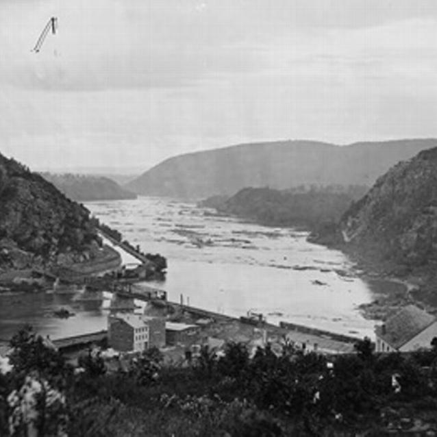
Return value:
M 435 321 L 432 314 L 408 305 L 384 323 L 385 332 L 384 325 L 375 327 L 375 334 L 394 349 L 399 349 Z

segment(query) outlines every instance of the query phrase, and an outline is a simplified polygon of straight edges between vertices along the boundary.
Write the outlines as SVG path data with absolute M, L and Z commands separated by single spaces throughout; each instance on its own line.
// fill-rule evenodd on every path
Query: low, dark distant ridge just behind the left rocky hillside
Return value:
M 41 173 L 64 195 L 75 201 L 136 199 L 136 194 L 119 186 L 108 177 Z

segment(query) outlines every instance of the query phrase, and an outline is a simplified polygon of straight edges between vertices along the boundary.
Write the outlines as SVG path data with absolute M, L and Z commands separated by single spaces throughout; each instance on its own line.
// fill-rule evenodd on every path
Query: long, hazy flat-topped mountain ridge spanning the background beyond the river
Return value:
M 250 186 L 371 186 L 399 160 L 436 146 L 434 139 L 358 142 L 345 147 L 300 140 L 237 145 L 170 158 L 125 187 L 140 195 L 199 199 L 233 195 Z

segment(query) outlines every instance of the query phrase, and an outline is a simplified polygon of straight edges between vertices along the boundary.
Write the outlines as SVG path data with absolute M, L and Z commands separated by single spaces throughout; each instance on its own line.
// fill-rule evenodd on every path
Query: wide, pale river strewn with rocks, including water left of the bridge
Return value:
M 307 233 L 264 227 L 171 199 L 140 197 L 86 206 L 142 251 L 168 260 L 165 282 L 151 283 L 168 299 L 224 314 L 262 312 L 272 323 L 295 323 L 372 336 L 373 321 L 357 307 L 371 301 L 365 282 L 340 251 L 306 241 Z M 129 257 L 125 258 L 129 262 Z M 72 308 L 58 319 L 53 310 Z M 75 302 L 72 295 L 0 295 L 0 340 L 23 323 L 52 338 L 104 329 L 108 301 Z

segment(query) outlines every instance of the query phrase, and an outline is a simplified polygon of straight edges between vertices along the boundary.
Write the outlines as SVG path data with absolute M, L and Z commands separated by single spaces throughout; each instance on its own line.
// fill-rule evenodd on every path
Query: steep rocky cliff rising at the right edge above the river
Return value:
M 437 147 L 379 177 L 344 214 L 340 232 L 346 248 L 420 277 L 430 297 L 437 285 Z

